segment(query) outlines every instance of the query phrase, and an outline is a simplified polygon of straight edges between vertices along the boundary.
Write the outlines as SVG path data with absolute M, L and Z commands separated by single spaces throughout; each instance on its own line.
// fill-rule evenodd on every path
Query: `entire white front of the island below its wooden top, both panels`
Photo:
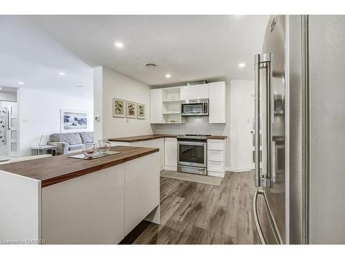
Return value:
M 159 224 L 159 167 L 156 152 L 42 188 L 41 238 L 118 244 L 141 220 Z

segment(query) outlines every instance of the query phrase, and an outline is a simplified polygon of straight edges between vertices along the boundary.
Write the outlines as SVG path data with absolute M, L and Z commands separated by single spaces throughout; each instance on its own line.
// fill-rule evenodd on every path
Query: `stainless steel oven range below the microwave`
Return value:
M 177 171 L 207 175 L 206 135 L 177 136 Z

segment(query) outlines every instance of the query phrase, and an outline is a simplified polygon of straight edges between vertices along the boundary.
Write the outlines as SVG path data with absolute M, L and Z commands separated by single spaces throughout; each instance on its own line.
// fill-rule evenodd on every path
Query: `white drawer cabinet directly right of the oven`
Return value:
M 226 140 L 207 141 L 207 173 L 224 178 L 226 164 Z

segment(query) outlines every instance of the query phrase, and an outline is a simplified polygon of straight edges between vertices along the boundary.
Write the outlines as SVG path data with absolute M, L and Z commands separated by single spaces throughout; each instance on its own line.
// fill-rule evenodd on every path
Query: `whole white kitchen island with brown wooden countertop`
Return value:
M 115 146 L 116 155 L 59 155 L 0 166 L 0 239 L 117 244 L 141 220 L 159 224 L 159 149 Z

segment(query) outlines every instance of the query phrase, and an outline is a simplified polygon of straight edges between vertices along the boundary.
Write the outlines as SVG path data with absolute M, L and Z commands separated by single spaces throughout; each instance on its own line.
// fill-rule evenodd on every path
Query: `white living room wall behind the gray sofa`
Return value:
M 30 155 L 30 146 L 43 144 L 49 135 L 60 132 L 60 110 L 70 109 L 89 112 L 89 131 L 93 131 L 93 100 L 88 98 L 61 95 L 19 88 L 19 156 Z

